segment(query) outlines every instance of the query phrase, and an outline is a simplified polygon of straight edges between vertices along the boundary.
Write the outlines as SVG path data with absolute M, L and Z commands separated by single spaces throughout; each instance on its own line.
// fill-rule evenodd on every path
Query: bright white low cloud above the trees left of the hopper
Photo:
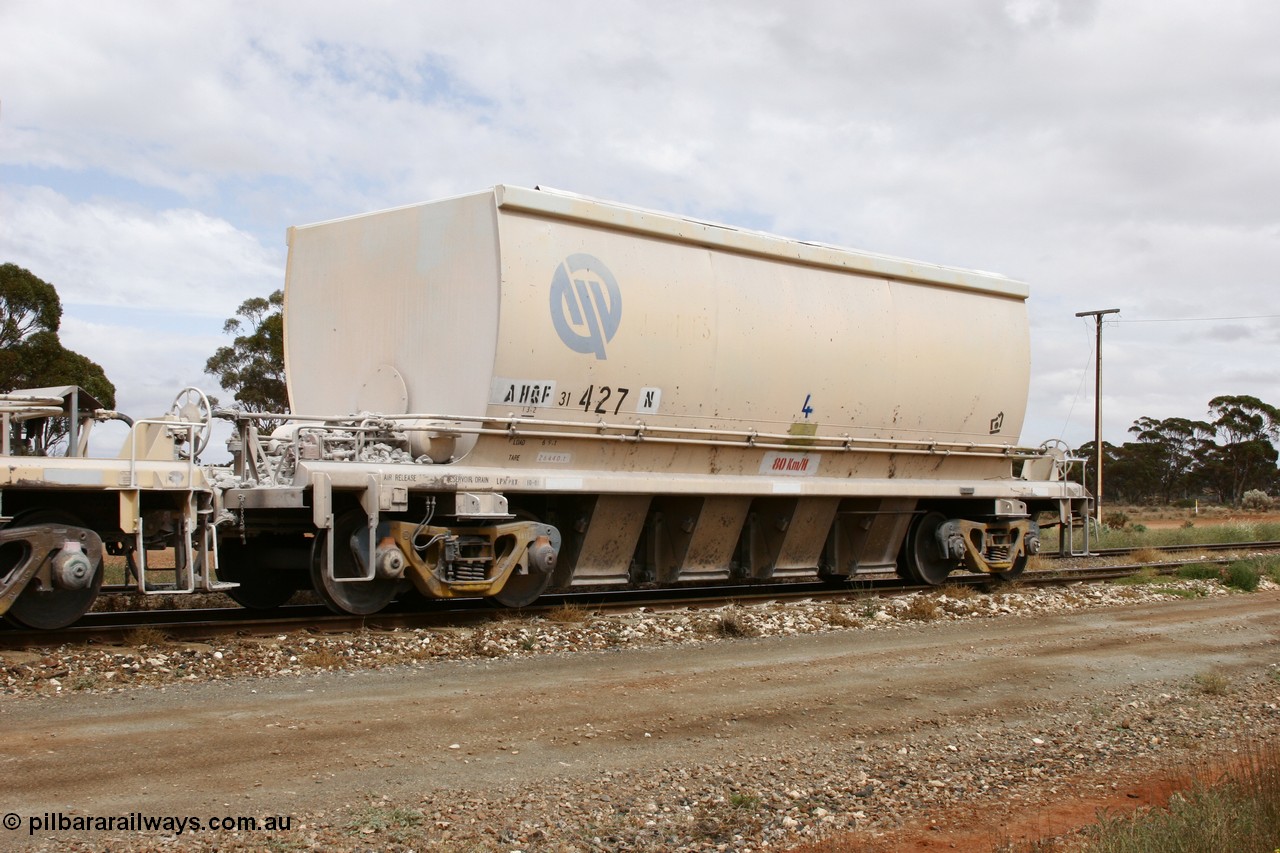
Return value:
M 243 300 L 284 283 L 283 251 L 268 251 L 225 220 L 72 202 L 42 187 L 0 197 L 0 246 L 4 261 L 58 288 L 63 345 L 102 366 L 116 409 L 133 418 L 164 414 L 186 386 L 220 393 L 205 361 L 228 342 L 223 321 Z M 114 455 L 123 441 L 119 428 L 105 426 L 92 448 Z

